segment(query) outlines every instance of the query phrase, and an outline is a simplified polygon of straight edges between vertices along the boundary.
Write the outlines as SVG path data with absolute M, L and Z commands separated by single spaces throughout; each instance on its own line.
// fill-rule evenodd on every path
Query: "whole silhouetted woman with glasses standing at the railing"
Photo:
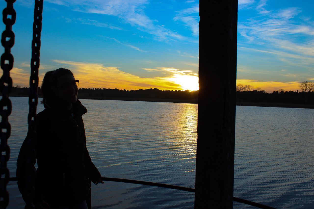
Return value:
M 87 110 L 77 99 L 78 80 L 65 68 L 46 72 L 41 90 L 45 110 L 37 115 L 36 208 L 87 208 L 88 179 L 103 183 L 86 148 L 82 115 Z M 27 141 L 17 160 L 19 190 L 26 186 Z M 23 196 L 24 198 L 24 196 Z

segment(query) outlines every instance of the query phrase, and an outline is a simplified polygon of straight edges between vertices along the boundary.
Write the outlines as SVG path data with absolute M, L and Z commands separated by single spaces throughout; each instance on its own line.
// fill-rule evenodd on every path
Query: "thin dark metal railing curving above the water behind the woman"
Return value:
M 10 177 L 9 181 L 17 181 L 18 179 L 16 177 Z M 175 190 L 182 190 L 182 191 L 189 191 L 189 192 L 195 192 L 195 189 L 183 187 L 183 186 L 175 186 L 175 185 L 169 185 L 169 184 L 160 184 L 160 183 L 154 183 L 149 181 L 138 181 L 138 180 L 131 180 L 131 179 L 118 179 L 118 178 L 109 178 L 109 177 L 101 177 L 101 180 L 103 181 L 115 181 L 115 182 L 123 182 L 123 183 L 130 183 L 130 184 L 140 184 L 140 185 L 148 185 L 148 186 L 158 186 L 158 187 L 164 187 L 168 189 L 175 189 Z M 259 208 L 265 208 L 265 209 L 274 209 L 274 207 L 270 207 L 267 205 L 263 205 L 257 202 L 252 202 L 249 200 L 244 200 L 238 197 L 233 197 L 233 201 L 241 202 L 246 205 L 251 205 Z

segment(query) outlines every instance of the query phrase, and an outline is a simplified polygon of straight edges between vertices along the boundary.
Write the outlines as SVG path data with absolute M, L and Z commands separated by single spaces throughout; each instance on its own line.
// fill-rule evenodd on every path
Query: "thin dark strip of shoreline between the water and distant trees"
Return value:
M 27 97 L 26 95 L 10 95 L 11 97 Z M 38 97 L 41 98 L 41 97 Z M 198 104 L 198 99 L 157 99 L 157 98 L 128 98 L 128 97 L 79 97 L 78 99 L 97 99 L 97 100 L 118 100 L 118 101 L 141 101 L 141 102 L 172 102 Z M 236 102 L 237 106 L 253 107 L 284 107 L 284 108 L 307 108 L 314 109 L 314 105 L 289 104 L 289 103 L 270 103 L 270 102 Z

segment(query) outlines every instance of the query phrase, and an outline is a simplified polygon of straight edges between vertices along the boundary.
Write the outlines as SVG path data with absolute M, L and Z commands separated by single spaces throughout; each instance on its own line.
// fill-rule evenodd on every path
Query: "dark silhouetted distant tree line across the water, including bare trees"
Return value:
M 236 85 L 237 102 L 264 102 L 264 103 L 291 103 L 314 105 L 314 83 L 301 82 L 301 91 L 284 91 L 278 89 L 273 93 L 267 93 L 261 88 L 252 85 Z M 158 88 L 119 90 L 117 88 L 80 88 L 79 98 L 106 99 L 106 98 L 143 98 L 143 99 L 197 99 L 199 91 L 190 90 L 159 90 Z M 11 96 L 29 96 L 29 88 L 12 87 Z M 41 97 L 41 89 L 38 87 L 38 96 Z

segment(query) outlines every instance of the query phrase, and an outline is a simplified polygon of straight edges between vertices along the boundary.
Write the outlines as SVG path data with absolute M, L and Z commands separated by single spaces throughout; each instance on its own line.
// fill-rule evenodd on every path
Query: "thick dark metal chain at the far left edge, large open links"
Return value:
M 11 134 L 11 125 L 8 121 L 8 116 L 12 111 L 12 103 L 9 99 L 9 93 L 12 90 L 12 78 L 10 77 L 10 70 L 13 68 L 13 55 L 11 48 L 14 45 L 14 33 L 12 25 L 15 23 L 16 12 L 13 8 L 15 0 L 6 0 L 7 8 L 3 9 L 3 23 L 5 30 L 1 36 L 1 44 L 4 47 L 4 53 L 1 56 L 0 66 L 3 70 L 3 75 L 0 78 L 0 91 L 2 99 L 0 100 L 0 115 L 2 117 L 0 122 L 0 208 L 6 208 L 9 204 L 9 193 L 7 191 L 7 183 L 9 181 L 10 173 L 7 168 L 7 161 L 10 158 L 10 147 L 8 146 L 8 138 Z M 5 152 L 5 154 L 3 154 Z M 2 175 L 4 174 L 4 178 Z

